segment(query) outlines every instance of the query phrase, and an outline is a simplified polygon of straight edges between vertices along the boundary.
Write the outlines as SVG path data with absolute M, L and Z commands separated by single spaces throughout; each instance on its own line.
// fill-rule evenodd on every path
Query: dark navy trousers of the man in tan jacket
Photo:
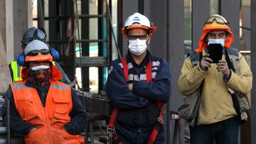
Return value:
M 218 123 L 189 127 L 191 144 L 238 144 L 240 119 L 238 116 Z

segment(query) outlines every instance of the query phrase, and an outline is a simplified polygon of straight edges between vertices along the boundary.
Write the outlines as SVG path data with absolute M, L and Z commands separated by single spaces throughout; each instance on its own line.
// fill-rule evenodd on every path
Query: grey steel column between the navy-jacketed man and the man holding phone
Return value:
M 166 33 L 166 57 L 169 65 L 171 66 L 171 99 L 169 106 L 171 111 L 177 111 L 178 107 L 183 104 L 183 96 L 178 92 L 177 82 L 178 76 L 181 72 L 184 55 L 184 1 L 171 0 L 166 4 L 167 10 L 167 33 Z M 169 114 L 169 113 L 168 113 Z M 169 115 L 168 115 L 169 116 Z M 167 123 L 171 123 L 169 130 L 174 130 L 174 120 L 168 117 Z M 170 126 L 170 124 L 168 125 Z M 183 143 L 183 125 L 181 125 L 181 143 Z M 167 138 L 173 140 L 174 131 L 167 131 Z M 166 143 L 171 143 L 167 139 Z

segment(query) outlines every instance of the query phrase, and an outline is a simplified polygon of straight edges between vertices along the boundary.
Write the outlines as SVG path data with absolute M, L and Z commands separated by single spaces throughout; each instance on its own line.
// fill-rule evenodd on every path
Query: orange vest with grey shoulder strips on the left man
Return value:
M 26 81 L 11 84 L 16 109 L 24 121 L 36 126 L 37 130 L 28 133 L 26 143 L 38 144 L 79 144 L 83 143 L 80 135 L 70 135 L 63 130 L 65 123 L 70 121 L 72 110 L 70 86 L 52 80 L 43 107 L 35 88 L 26 87 Z

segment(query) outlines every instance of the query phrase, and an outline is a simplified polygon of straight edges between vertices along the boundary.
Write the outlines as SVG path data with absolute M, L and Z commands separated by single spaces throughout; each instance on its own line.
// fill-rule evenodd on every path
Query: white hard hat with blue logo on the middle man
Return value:
M 124 35 L 127 35 L 126 30 L 135 28 L 149 31 L 149 35 L 153 34 L 153 32 L 156 31 L 156 27 L 150 26 L 149 19 L 141 13 L 134 13 L 132 16 L 129 16 L 127 18 L 127 20 L 124 23 L 124 28 L 122 28 L 122 33 Z

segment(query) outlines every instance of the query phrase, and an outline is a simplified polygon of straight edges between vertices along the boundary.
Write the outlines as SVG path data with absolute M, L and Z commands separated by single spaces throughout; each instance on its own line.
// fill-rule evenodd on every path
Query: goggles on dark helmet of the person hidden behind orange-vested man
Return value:
M 45 31 L 43 29 L 36 29 L 33 33 L 33 37 L 21 40 L 21 43 L 23 43 L 23 45 L 28 45 L 28 43 L 31 43 L 32 40 L 40 40 L 43 43 L 46 43 Z

